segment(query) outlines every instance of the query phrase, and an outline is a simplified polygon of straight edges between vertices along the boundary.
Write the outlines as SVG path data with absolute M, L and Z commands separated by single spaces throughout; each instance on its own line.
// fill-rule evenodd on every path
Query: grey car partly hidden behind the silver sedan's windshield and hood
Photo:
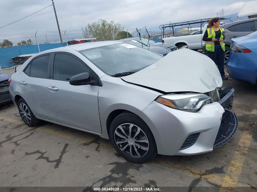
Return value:
M 131 40 L 130 40 L 131 39 Z M 139 47 L 143 47 L 145 49 L 149 49 L 151 51 L 154 51 L 156 53 L 159 53 L 163 56 L 167 55 L 169 52 L 171 52 L 171 49 L 168 49 L 166 47 L 160 47 L 160 46 L 150 46 L 148 47 L 147 45 L 144 45 L 142 44 L 141 42 L 138 42 L 132 38 L 129 38 L 129 39 L 120 39 L 118 41 L 121 41 L 121 42 L 126 42 L 126 43 L 129 43 L 129 44 L 132 44 L 132 45 L 137 45 Z

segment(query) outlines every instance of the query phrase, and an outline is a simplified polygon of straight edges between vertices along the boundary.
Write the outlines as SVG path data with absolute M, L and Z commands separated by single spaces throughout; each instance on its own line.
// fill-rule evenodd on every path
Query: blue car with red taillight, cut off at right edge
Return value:
M 257 81 L 257 31 L 232 39 L 227 71 L 233 79 Z

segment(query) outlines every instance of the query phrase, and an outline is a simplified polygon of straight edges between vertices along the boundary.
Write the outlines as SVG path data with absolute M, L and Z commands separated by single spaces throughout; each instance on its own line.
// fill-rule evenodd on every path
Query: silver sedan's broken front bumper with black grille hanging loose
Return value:
M 173 109 L 157 102 L 142 111 L 141 118 L 151 129 L 159 154 L 207 153 L 234 136 L 238 120 L 229 111 L 233 104 L 234 89 L 226 88 L 219 92 L 219 101 L 203 106 L 196 113 Z

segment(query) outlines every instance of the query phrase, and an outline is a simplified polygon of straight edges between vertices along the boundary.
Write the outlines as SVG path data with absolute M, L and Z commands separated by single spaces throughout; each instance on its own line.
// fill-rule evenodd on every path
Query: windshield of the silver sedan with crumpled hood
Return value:
M 140 71 L 163 57 L 148 49 L 124 42 L 79 52 L 110 76 L 117 73 Z

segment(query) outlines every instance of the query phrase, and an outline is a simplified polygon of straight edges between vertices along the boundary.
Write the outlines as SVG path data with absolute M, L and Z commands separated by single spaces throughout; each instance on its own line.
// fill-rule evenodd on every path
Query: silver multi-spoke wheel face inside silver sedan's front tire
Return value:
M 146 155 L 149 142 L 144 131 L 131 123 L 118 126 L 114 132 L 114 139 L 120 150 L 133 158 Z

